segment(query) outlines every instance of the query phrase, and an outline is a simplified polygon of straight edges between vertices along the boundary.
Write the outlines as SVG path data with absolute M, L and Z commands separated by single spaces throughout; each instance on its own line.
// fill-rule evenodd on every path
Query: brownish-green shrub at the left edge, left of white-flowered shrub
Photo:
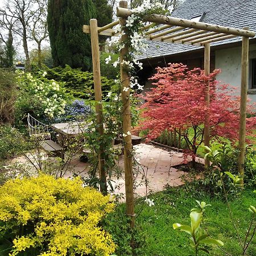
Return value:
M 14 122 L 14 106 L 17 95 L 15 73 L 0 68 L 0 124 Z

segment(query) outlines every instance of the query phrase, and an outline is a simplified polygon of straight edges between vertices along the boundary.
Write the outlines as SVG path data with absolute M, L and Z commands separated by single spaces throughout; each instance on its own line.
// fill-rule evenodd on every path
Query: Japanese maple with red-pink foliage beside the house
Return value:
M 200 144 L 204 141 L 205 115 L 209 113 L 210 137 L 225 137 L 235 142 L 238 139 L 240 119 L 240 97 L 230 85 L 219 84 L 215 77 L 216 69 L 209 76 L 200 68 L 189 70 L 183 64 L 168 64 L 166 68 L 156 68 L 151 77 L 154 81 L 142 108 L 140 125 L 148 129 L 148 139 L 158 137 L 164 130 L 180 130 L 191 151 L 193 162 Z M 210 106 L 205 105 L 207 82 L 210 86 Z M 248 106 L 248 112 L 251 111 Z M 251 132 L 256 118 L 247 118 L 246 131 Z

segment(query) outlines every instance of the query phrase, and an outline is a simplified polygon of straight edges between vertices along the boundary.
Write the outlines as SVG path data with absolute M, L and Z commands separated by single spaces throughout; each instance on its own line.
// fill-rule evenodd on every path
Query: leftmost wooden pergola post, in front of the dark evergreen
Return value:
M 97 19 L 90 19 L 90 38 L 92 42 L 92 61 L 93 61 L 93 81 L 94 81 L 94 94 L 96 101 L 96 116 L 98 124 L 98 133 L 100 137 L 104 134 L 103 115 L 102 115 L 102 94 L 101 94 L 101 69 L 100 69 L 100 48 L 98 45 L 98 24 Z M 101 142 L 101 138 L 99 138 Z M 98 152 L 98 168 L 100 170 L 100 190 L 106 195 L 106 172 L 105 172 L 105 159 L 104 147 L 100 144 Z

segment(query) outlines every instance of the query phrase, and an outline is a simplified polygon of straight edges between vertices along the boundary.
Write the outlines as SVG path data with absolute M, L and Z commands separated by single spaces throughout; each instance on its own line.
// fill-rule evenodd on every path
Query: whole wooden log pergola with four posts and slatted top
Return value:
M 118 36 L 113 30 L 113 27 L 117 24 L 125 26 L 128 16 L 133 14 L 132 10 L 127 9 L 127 1 L 120 1 L 117 8 L 118 20 L 112 22 L 104 27 L 97 26 L 97 20 L 91 19 L 90 26 L 83 26 L 83 31 L 91 35 L 92 42 L 92 59 L 93 59 L 93 75 L 94 75 L 94 90 L 96 100 L 96 113 L 98 122 L 98 131 L 100 134 L 104 133 L 104 127 L 102 123 L 102 96 L 101 96 L 101 78 L 100 78 L 100 50 L 98 46 L 98 36 Z M 246 134 L 246 102 L 247 102 L 247 88 L 248 88 L 248 62 L 249 62 L 249 38 L 255 36 L 255 32 L 249 31 L 249 28 L 243 29 L 218 26 L 216 24 L 209 24 L 203 22 L 195 22 L 188 19 L 174 18 L 172 16 L 164 16 L 158 14 L 152 14 L 144 19 L 144 22 L 150 22 L 150 24 L 142 28 L 146 31 L 146 40 L 158 41 L 164 43 L 176 43 L 176 44 L 188 44 L 191 46 L 203 46 L 204 47 L 204 71 L 205 75 L 210 73 L 210 43 L 222 41 L 225 39 L 235 38 L 242 36 L 242 76 L 241 76 L 241 102 L 240 102 L 240 131 L 239 131 L 239 158 L 238 158 L 238 171 L 243 177 L 243 164 L 245 159 L 245 134 Z M 155 24 L 160 26 L 152 28 Z M 125 30 L 125 28 L 124 28 Z M 129 40 L 127 35 L 122 35 L 121 42 Z M 120 63 L 122 63 L 125 56 L 128 54 L 127 47 L 123 48 L 120 52 Z M 122 88 L 129 87 L 129 73 L 120 65 Z M 123 102 L 123 133 L 131 131 L 131 108 L 130 108 L 130 92 L 129 90 L 122 91 Z M 209 84 L 205 91 L 205 104 L 209 106 Z M 209 114 L 205 118 L 204 122 L 204 144 L 209 146 Z M 125 188 L 126 188 L 126 212 L 131 217 L 131 227 L 134 226 L 134 194 L 133 194 L 133 162 L 131 158 L 132 144 L 131 137 L 127 136 L 124 140 L 125 151 Z M 105 160 L 102 158 L 104 148 L 101 146 L 99 154 L 99 169 L 101 190 L 106 187 L 106 174 L 104 169 Z M 205 163 L 206 165 L 209 163 Z M 104 187 L 105 186 L 105 187 Z

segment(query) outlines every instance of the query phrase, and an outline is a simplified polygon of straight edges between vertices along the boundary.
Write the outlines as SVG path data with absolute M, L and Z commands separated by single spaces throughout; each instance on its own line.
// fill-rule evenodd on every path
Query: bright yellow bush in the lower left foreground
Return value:
M 40 175 L 0 187 L 0 236 L 13 242 L 10 256 L 98 255 L 115 244 L 99 225 L 114 209 L 109 196 L 73 180 Z

